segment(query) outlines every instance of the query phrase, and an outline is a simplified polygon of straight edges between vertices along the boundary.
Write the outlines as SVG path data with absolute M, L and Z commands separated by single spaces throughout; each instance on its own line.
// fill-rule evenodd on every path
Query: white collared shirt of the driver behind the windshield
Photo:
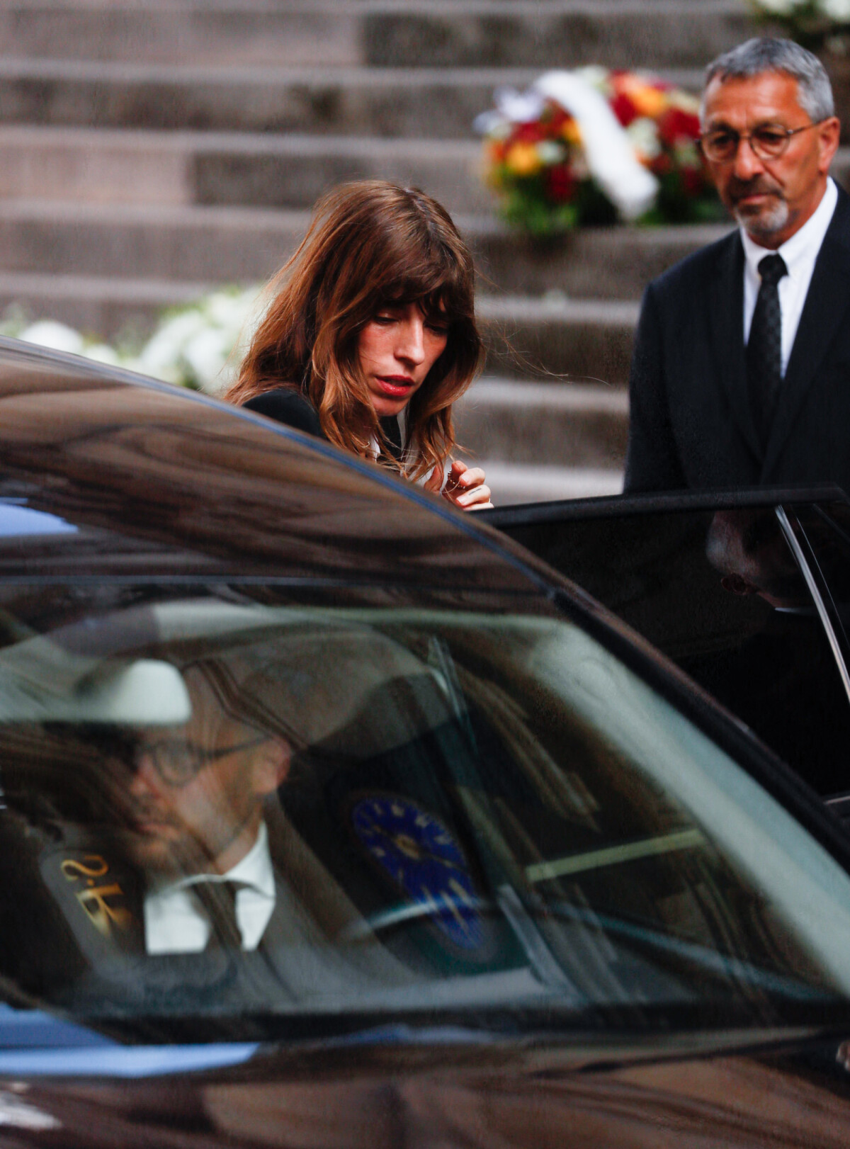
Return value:
M 235 900 L 242 949 L 256 949 L 275 909 L 275 871 L 269 832 L 260 826 L 257 840 L 241 862 L 224 874 L 200 873 L 152 890 L 145 899 L 145 948 L 148 954 L 198 954 L 209 940 L 209 921 L 192 886 L 200 881 L 240 881 Z

